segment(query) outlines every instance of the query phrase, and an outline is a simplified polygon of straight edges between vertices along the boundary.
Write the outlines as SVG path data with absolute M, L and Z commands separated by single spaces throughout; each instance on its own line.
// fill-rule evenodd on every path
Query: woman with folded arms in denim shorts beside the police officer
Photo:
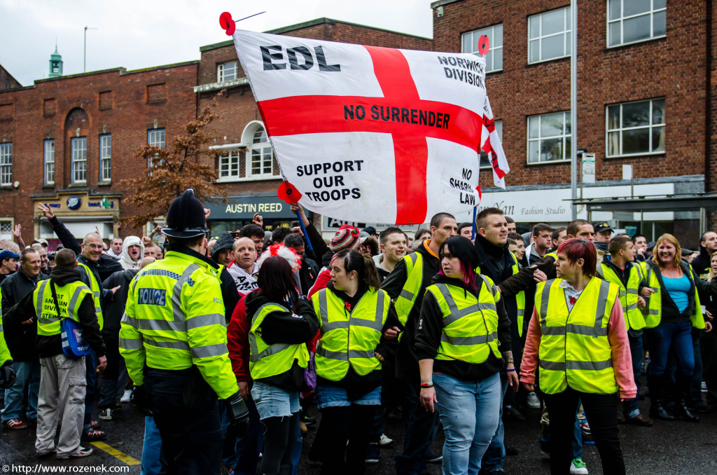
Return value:
M 246 297 L 249 330 L 249 368 L 252 398 L 265 427 L 265 475 L 290 474 L 299 425 L 299 392 L 309 354 L 305 342 L 318 331 L 309 301 L 298 293 L 291 265 L 278 255 L 267 258 L 257 288 Z

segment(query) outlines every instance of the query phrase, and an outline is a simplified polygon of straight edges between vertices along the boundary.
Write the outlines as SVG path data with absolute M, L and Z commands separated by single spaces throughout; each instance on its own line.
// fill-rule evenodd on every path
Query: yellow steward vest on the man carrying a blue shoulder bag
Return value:
M 57 304 L 60 306 L 58 312 L 49 283 L 50 281 L 40 282 L 32 294 L 37 316 L 37 334 L 45 337 L 60 334 L 61 319 L 69 317 L 79 322 L 80 317 L 77 315 L 77 311 L 80 309 L 80 304 L 86 296 L 92 295 L 90 288 L 80 281 L 70 282 L 65 286 L 55 285 Z

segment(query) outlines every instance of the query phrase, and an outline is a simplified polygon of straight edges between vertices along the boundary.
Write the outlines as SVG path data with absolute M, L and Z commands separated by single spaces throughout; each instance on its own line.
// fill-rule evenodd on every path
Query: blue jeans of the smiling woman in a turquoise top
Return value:
M 670 347 L 675 349 L 675 357 L 680 374 L 692 376 L 695 370 L 695 349 L 692 344 L 692 323 L 682 321 L 673 323 L 663 321 L 655 328 L 645 330 L 650 345 L 650 375 L 662 376 L 668 365 Z

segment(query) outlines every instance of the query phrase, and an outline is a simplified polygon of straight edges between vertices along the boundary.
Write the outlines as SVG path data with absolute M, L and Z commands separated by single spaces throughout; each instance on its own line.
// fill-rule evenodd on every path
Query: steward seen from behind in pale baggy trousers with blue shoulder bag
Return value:
M 39 257 L 39 256 L 38 256 Z M 50 273 L 50 282 L 55 286 L 67 286 L 72 282 L 80 282 L 80 273 L 75 269 L 77 260 L 75 253 L 69 249 L 60 250 L 55 256 L 57 266 Z M 6 321 L 12 323 L 34 324 L 42 316 L 41 325 L 46 330 L 52 325 L 49 316 L 37 315 L 35 310 L 34 292 L 28 293 L 16 306 L 4 316 Z M 49 304 L 44 304 L 43 307 Z M 54 311 L 57 309 L 50 305 Z M 82 329 L 82 337 L 90 344 L 92 350 L 98 355 L 98 370 L 107 365 L 105 358 L 105 344 L 100 335 L 95 302 L 90 293 L 85 294 L 77 308 L 77 323 Z M 30 319 L 27 316 L 32 315 Z M 60 306 L 60 319 L 70 318 L 65 309 Z M 83 358 L 70 359 L 62 352 L 62 337 L 60 329 L 56 334 L 38 335 L 37 352 L 42 365 L 37 413 L 37 440 L 35 453 L 37 456 L 49 456 L 57 449 L 57 458 L 85 457 L 92 453 L 92 448 L 80 446 L 80 428 L 84 415 L 85 400 L 85 361 Z M 92 368 L 95 370 L 95 368 Z M 62 415 L 62 426 L 57 446 L 54 445 L 54 436 L 57 433 L 57 420 Z

